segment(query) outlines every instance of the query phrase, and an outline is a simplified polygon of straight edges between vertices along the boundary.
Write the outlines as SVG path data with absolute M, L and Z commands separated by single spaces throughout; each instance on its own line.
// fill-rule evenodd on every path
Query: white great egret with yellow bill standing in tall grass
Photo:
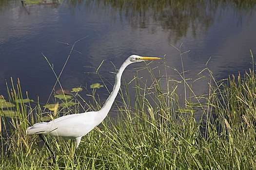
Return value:
M 158 59 L 161 59 L 161 58 L 141 57 L 138 55 L 129 56 L 124 61 L 120 69 L 118 70 L 118 73 L 116 75 L 116 83 L 113 87 L 113 91 L 111 92 L 105 104 L 99 111 L 67 115 L 67 116 L 54 119 L 49 122 L 36 123 L 33 126 L 27 128 L 26 134 L 27 135 L 39 134 L 40 137 L 41 135 L 62 136 L 64 138 L 75 139 L 76 148 L 78 148 L 82 136 L 85 136 L 87 133 L 93 130 L 94 127 L 96 127 L 99 123 L 101 123 L 103 119 L 106 118 L 112 104 L 115 101 L 115 98 L 118 95 L 118 91 L 121 85 L 121 76 L 124 69 L 132 63 L 137 63 L 137 62 L 146 61 L 146 60 L 158 60 Z

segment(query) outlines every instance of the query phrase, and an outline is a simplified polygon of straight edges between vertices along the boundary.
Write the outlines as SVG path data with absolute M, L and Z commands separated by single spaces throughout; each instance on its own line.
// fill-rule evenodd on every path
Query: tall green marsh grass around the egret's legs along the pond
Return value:
M 180 52 L 182 57 L 182 52 Z M 252 54 L 253 57 L 253 54 Z M 166 69 L 171 69 L 162 63 Z M 254 63 L 253 63 L 254 65 Z M 16 118 L 3 118 L 0 168 L 5 170 L 255 170 L 256 169 L 256 76 L 254 68 L 217 82 L 205 68 L 209 93 L 196 96 L 185 74 L 183 81 L 155 73 L 146 65 L 151 77 L 143 82 L 135 76 L 135 99 L 129 84 L 123 83 L 118 118 L 107 117 L 101 125 L 82 138 L 77 155 L 75 143 L 47 137 L 57 155 L 51 154 L 38 136 L 26 136 L 25 129 L 40 121 L 45 113 L 40 104 L 17 102 L 23 99 L 20 82 L 7 85 L 10 108 Z M 103 79 L 102 79 L 103 80 Z M 103 83 L 104 84 L 104 83 Z M 177 88 L 188 90 L 185 102 Z M 188 96 L 188 94 L 191 94 Z M 86 110 L 98 110 L 94 103 L 79 103 Z M 28 98 L 28 96 L 26 96 Z M 75 97 L 79 97 L 75 96 Z M 134 103 L 133 103 L 134 101 Z M 197 101 L 192 103 L 192 101 Z M 197 111 L 196 111 L 197 110 Z M 57 115 L 78 113 L 78 106 L 58 110 Z M 201 119 L 195 119 L 199 112 Z M 10 128 L 11 127 L 11 128 Z

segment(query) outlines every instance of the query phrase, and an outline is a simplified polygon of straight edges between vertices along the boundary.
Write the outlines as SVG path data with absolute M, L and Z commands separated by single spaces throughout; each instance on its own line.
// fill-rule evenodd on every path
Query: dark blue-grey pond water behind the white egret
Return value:
M 114 83 L 113 64 L 119 68 L 131 54 L 165 56 L 168 66 L 196 80 L 206 66 L 220 80 L 252 67 L 250 49 L 256 51 L 256 2 L 252 0 L 0 0 L 0 94 L 6 94 L 5 79 L 20 78 L 30 98 L 46 102 L 72 44 L 74 50 L 61 74 L 65 89 L 100 82 L 89 74 L 98 68 Z M 35 1 L 34 1 L 35 2 Z M 67 45 L 69 44 L 69 45 Z M 113 63 L 113 64 L 112 64 Z M 144 63 L 129 66 L 126 82 Z M 154 62 L 164 73 L 161 62 Z M 146 71 L 140 71 L 144 79 Z M 207 73 L 205 73 L 207 75 Z M 171 79 L 181 80 L 174 69 Z M 207 92 L 207 82 L 191 81 L 196 94 Z M 110 83 L 106 85 L 112 89 Z M 57 86 L 56 88 L 59 88 Z M 103 99 L 109 93 L 97 91 Z M 85 96 L 86 93 L 83 95 Z M 104 100 L 102 100 L 104 101 Z

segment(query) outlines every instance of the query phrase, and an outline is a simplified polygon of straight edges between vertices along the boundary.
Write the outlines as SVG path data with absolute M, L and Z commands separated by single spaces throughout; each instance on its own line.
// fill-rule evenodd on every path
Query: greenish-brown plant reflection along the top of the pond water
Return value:
M 127 19 L 133 28 L 148 28 L 155 32 L 160 25 L 169 32 L 169 41 L 177 42 L 191 29 L 193 36 L 204 32 L 216 18 L 220 19 L 226 8 L 236 15 L 249 17 L 256 9 L 255 0 L 68 0 L 74 11 L 85 5 L 86 9 L 97 3 L 98 9 L 111 7 L 119 17 Z M 95 6 L 95 5 L 94 5 Z M 112 18 L 115 21 L 115 17 Z

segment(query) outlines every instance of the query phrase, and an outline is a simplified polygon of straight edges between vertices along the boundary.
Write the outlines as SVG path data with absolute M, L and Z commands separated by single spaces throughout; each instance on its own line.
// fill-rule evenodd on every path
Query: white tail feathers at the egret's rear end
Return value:
M 26 135 L 33 134 L 48 134 L 51 132 L 51 124 L 47 122 L 36 123 L 33 126 L 30 126 L 26 130 Z

